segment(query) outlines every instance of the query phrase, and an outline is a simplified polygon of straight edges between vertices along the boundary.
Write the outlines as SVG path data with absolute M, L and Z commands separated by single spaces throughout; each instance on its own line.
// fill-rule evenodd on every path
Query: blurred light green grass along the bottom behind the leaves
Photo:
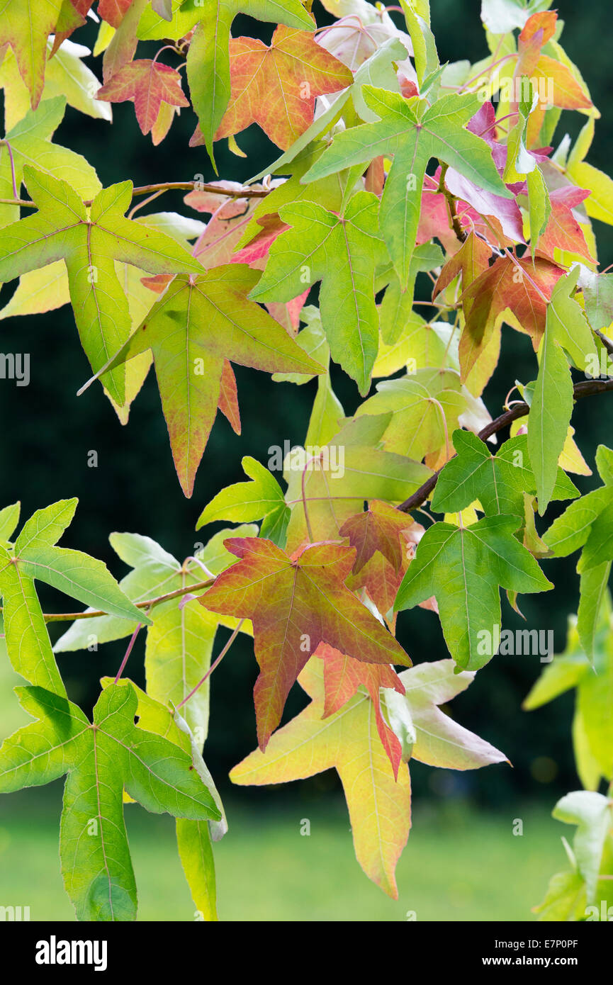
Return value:
M 57 850 L 61 790 L 0 801 L 0 904 L 29 905 L 31 919 L 73 920 Z M 534 919 L 549 877 L 565 868 L 563 825 L 544 809 L 478 812 L 457 802 L 422 805 L 397 870 L 398 900 L 358 866 L 340 802 L 292 803 L 273 814 L 228 808 L 230 831 L 215 846 L 219 915 L 238 921 L 521 921 Z M 512 834 L 513 820 L 523 834 Z M 304 819 L 310 834 L 301 835 Z M 126 809 L 139 919 L 190 921 L 194 905 L 174 844 L 173 821 Z

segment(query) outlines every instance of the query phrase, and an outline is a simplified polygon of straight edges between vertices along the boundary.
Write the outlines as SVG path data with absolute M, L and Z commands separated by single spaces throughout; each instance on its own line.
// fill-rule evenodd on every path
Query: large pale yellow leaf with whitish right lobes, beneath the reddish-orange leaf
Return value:
M 300 684 L 311 702 L 272 737 L 265 753 L 247 755 L 232 770 L 233 783 L 268 785 L 304 779 L 335 767 L 341 778 L 358 862 L 384 892 L 397 898 L 394 870 L 411 826 L 411 783 L 406 765 L 398 778 L 376 730 L 375 704 L 358 692 L 338 711 L 325 710 L 323 668 L 310 660 Z M 393 699 L 398 731 L 410 732 L 407 754 L 433 766 L 476 769 L 502 762 L 505 755 L 463 729 L 437 707 L 465 690 L 474 674 L 453 673 L 451 660 L 420 664 L 403 671 L 402 696 L 385 688 Z

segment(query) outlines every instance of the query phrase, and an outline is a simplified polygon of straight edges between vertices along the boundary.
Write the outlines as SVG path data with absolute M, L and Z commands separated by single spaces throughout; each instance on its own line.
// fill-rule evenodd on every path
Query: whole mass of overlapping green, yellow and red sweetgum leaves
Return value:
M 0 513 L 7 650 L 38 718 L 0 753 L 3 789 L 68 772 L 62 864 L 85 919 L 134 916 L 122 793 L 170 810 L 194 901 L 214 919 L 211 834 L 225 822 L 201 752 L 223 624 L 253 633 L 260 671 L 259 750 L 233 779 L 284 782 L 335 766 L 358 859 L 395 895 L 410 758 L 458 769 L 505 759 L 439 707 L 494 657 L 483 634 L 500 630 L 501 588 L 518 609 L 521 593 L 553 587 L 541 558 L 581 549 L 581 652 L 557 658 L 528 698 L 535 706 L 579 689 L 587 790 L 557 809 L 579 824 L 573 873 L 560 877 L 573 903 L 565 909 L 557 887 L 542 910 L 578 918 L 610 865 L 610 806 L 597 787 L 611 782 L 613 761 L 599 635 L 613 560 L 611 452 L 598 449 L 602 488 L 581 496 L 567 475 L 589 472 L 573 439 L 575 400 L 613 388 L 613 275 L 598 273 L 591 223 L 613 223 L 613 183 L 585 162 L 599 112 L 548 0 L 483 0 L 489 54 L 474 65 L 440 64 L 428 0 L 401 0 L 393 19 L 367 0 L 323 2 L 335 18 L 324 30 L 300 0 L 5 4 L 0 281 L 20 284 L 0 318 L 70 301 L 93 379 L 124 424 L 153 362 L 186 496 L 217 411 L 240 432 L 233 362 L 312 387 L 313 403 L 304 446 L 286 446 L 281 430 L 267 464 L 243 458 L 247 481 L 221 490 L 198 521 L 246 526 L 218 530 L 182 563 L 146 537 L 113 534 L 132 568 L 120 586 L 100 562 L 55 547 L 70 503 L 34 514 L 15 543 L 17 511 Z M 272 25 L 270 43 L 233 34 L 238 14 Z M 92 16 L 102 84 L 70 39 Z M 193 109 L 203 170 L 216 168 L 219 141 L 244 156 L 237 135 L 252 124 L 282 153 L 246 185 L 197 174 L 102 189 L 53 134 L 66 103 L 108 121 L 126 100 L 154 144 Z M 575 144 L 557 136 L 563 111 L 586 119 Z M 172 187 L 208 222 L 137 214 L 141 195 Z M 525 403 L 493 422 L 484 392 L 511 329 L 530 340 L 534 378 L 507 374 Z M 331 363 L 363 398 L 351 416 Z M 428 499 L 442 519 L 418 515 Z M 574 501 L 539 534 L 535 514 L 565 499 Z M 35 578 L 92 607 L 56 652 L 124 636 L 129 652 L 147 624 L 146 693 L 104 682 L 94 723 L 85 719 L 66 697 Z M 416 605 L 440 620 L 452 659 L 412 654 L 411 666 L 395 628 Z M 297 680 L 311 703 L 276 731 Z M 169 773 L 144 791 L 156 743 L 167 744 Z M 108 801 L 91 804 L 97 770 L 115 755 Z M 81 844 L 90 821 L 102 833 L 113 825 L 116 869 L 95 837 Z

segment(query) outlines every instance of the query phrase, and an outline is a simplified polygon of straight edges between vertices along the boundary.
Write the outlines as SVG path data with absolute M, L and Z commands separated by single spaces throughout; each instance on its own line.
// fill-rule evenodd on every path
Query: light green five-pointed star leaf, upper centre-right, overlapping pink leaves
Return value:
M 439 158 L 495 195 L 510 198 L 511 192 L 487 143 L 465 128 L 479 109 L 477 96 L 443 96 L 423 111 L 417 97 L 404 99 L 374 86 L 364 86 L 362 92 L 380 119 L 337 134 L 304 180 L 314 181 L 344 167 L 369 164 L 380 155 L 393 155 L 381 197 L 380 228 L 400 284 L 406 287 L 424 175 L 431 158 Z

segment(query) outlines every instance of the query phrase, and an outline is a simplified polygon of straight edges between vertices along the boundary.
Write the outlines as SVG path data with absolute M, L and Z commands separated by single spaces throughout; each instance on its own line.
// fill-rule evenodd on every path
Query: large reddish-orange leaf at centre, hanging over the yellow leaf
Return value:
M 230 538 L 239 559 L 202 597 L 213 612 L 253 623 L 260 674 L 253 696 L 257 736 L 265 749 L 286 698 L 320 643 L 375 664 L 410 664 L 394 637 L 345 586 L 355 552 L 316 544 L 289 557 L 272 541 Z

